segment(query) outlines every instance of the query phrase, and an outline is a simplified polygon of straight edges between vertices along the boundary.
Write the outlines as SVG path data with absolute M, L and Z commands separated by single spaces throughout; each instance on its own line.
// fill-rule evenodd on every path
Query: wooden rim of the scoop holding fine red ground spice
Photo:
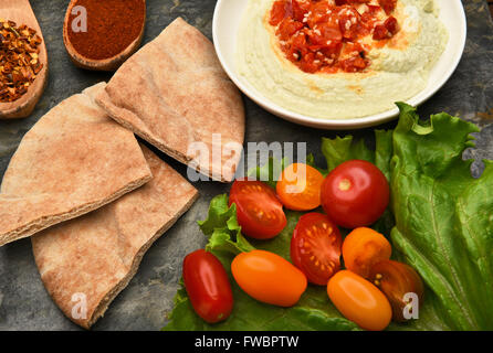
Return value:
M 1 1 L 1 0 L 0 0 Z M 65 13 L 65 21 L 63 23 L 63 42 L 65 43 L 66 52 L 69 53 L 69 56 L 71 57 L 72 62 L 82 68 L 85 69 L 94 69 L 94 71 L 115 71 L 119 67 L 119 65 L 125 62 L 128 56 L 134 54 L 134 52 L 138 49 L 143 41 L 144 36 L 144 28 L 146 23 L 146 15 L 144 15 L 143 21 L 143 28 L 140 29 L 139 35 L 133 41 L 122 53 L 103 60 L 94 60 L 88 58 L 81 53 L 78 53 L 75 47 L 72 45 L 70 38 L 69 38 L 69 30 L 71 29 L 70 17 L 72 12 L 72 8 L 76 3 L 77 0 L 71 0 L 69 3 L 69 8 L 66 9 Z M 146 4 L 146 1 L 144 1 L 144 4 Z

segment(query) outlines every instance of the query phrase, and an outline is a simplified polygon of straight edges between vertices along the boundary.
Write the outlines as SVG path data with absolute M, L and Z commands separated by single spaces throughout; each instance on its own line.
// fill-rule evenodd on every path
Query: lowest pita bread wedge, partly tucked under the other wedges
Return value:
M 136 274 L 146 250 L 198 196 L 153 152 L 144 148 L 144 154 L 154 174 L 150 182 L 31 238 L 44 287 L 65 315 L 85 329 L 104 314 Z

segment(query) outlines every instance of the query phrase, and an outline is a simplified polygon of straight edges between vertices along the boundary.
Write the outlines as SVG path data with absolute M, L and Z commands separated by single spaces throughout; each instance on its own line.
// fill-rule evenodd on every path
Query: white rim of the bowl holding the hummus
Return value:
M 218 55 L 218 58 L 219 58 L 219 62 L 221 63 L 222 68 L 228 74 L 230 79 L 237 85 L 237 87 L 245 96 L 251 98 L 253 101 L 255 101 L 258 105 L 260 105 L 265 110 L 272 113 L 273 115 L 275 115 L 282 119 L 285 119 L 285 120 L 289 120 L 289 121 L 292 121 L 292 122 L 295 122 L 298 125 L 315 127 L 315 128 L 321 128 L 321 129 L 366 128 L 366 127 L 376 126 L 379 124 L 387 122 L 389 120 L 395 119 L 399 115 L 399 109 L 396 107 L 396 108 L 392 108 L 387 111 L 382 111 L 382 113 L 379 113 L 376 115 L 360 117 L 360 118 L 319 119 L 319 118 L 310 117 L 310 116 L 298 114 L 295 111 L 291 111 L 286 108 L 280 107 L 279 105 L 276 105 L 275 103 L 265 98 L 261 94 L 258 94 L 256 90 L 253 90 L 250 87 L 248 87 L 239 78 L 239 75 L 237 75 L 232 71 L 232 68 L 230 68 L 229 64 L 227 63 L 227 61 L 222 54 L 221 47 L 219 45 L 219 30 L 218 30 L 219 20 L 218 19 L 220 17 L 222 6 L 227 1 L 231 1 L 231 0 L 218 0 L 218 2 L 216 3 L 214 13 L 213 13 L 213 18 L 212 18 L 212 40 L 213 40 L 216 53 Z M 416 97 L 418 97 L 424 90 L 423 89 L 420 93 L 418 93 L 415 97 L 407 99 L 407 103 L 412 106 L 421 105 L 422 103 L 424 103 L 426 100 L 431 98 L 440 88 L 442 88 L 443 85 L 450 79 L 452 74 L 455 72 L 455 69 L 459 66 L 459 63 L 463 56 L 466 38 L 468 38 L 468 20 L 465 17 L 465 10 L 464 10 L 464 6 L 463 6 L 462 1 L 461 0 L 453 0 L 453 1 L 455 1 L 455 4 L 459 4 L 460 9 L 461 9 L 461 11 L 460 11 L 461 22 L 460 22 L 460 25 L 458 26 L 459 29 L 463 29 L 463 31 L 461 30 L 461 33 L 460 33 L 461 34 L 460 50 L 457 52 L 458 54 L 455 55 L 455 57 L 453 60 L 453 64 L 448 67 L 445 74 L 442 75 L 441 79 L 437 81 L 437 84 L 430 89 L 430 92 L 427 95 L 424 95 L 423 97 L 421 97 L 419 99 L 416 99 Z

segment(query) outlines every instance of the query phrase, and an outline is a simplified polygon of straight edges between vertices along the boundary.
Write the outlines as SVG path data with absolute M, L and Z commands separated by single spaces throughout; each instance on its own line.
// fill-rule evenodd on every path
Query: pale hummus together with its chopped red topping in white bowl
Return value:
M 385 113 L 427 88 L 449 41 L 439 11 L 436 0 L 249 0 L 237 72 L 273 104 L 307 117 Z

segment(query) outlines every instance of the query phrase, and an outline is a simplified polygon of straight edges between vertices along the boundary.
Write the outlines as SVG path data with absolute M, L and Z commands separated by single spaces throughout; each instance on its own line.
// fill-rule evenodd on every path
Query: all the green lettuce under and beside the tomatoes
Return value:
M 472 178 L 471 161 L 463 161 L 462 153 L 473 146 L 474 125 L 447 114 L 423 122 L 415 108 L 398 106 L 396 130 L 375 131 L 375 151 L 352 137 L 322 142 L 328 170 L 363 159 L 375 163 L 390 181 L 390 210 L 373 227 L 391 237 L 392 257 L 417 269 L 427 288 L 419 319 L 391 323 L 388 330 L 492 330 L 493 162 L 484 161 L 483 175 Z M 280 162 L 272 160 L 255 170 L 266 173 L 272 186 L 274 163 Z M 307 163 L 314 165 L 313 156 Z M 203 322 L 181 284 L 164 330 L 358 330 L 331 303 L 325 287 L 308 286 L 300 302 L 285 309 L 250 298 L 231 277 L 231 261 L 240 252 L 262 248 L 290 260 L 291 235 L 301 215 L 286 211 L 287 226 L 274 239 L 246 240 L 234 205 L 228 206 L 227 195 L 214 197 L 208 218 L 199 225 L 209 237 L 207 249 L 230 276 L 233 312 L 222 323 Z

